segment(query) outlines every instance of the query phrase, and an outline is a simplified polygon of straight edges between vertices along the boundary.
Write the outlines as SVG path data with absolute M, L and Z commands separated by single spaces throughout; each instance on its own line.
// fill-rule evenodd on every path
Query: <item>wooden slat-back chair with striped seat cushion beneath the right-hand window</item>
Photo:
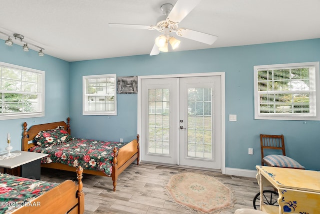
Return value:
M 304 166 L 290 157 L 285 156 L 284 137 L 281 135 L 268 135 L 260 134 L 260 146 L 261 146 L 261 165 L 283 167 L 283 168 L 295 168 L 305 169 Z M 264 149 L 276 149 L 281 150 L 282 155 L 269 154 L 264 156 Z

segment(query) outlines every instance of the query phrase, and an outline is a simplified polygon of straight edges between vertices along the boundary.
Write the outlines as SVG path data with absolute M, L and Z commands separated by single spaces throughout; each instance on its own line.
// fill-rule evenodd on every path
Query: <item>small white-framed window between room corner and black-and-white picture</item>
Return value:
M 116 115 L 115 74 L 82 77 L 83 115 Z

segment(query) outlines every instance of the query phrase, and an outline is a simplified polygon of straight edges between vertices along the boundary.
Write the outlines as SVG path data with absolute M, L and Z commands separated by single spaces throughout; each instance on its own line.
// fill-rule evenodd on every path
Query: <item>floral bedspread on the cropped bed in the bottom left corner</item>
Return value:
M 39 202 L 30 201 L 56 185 L 58 183 L 0 173 L 0 214 L 20 206 L 40 206 Z

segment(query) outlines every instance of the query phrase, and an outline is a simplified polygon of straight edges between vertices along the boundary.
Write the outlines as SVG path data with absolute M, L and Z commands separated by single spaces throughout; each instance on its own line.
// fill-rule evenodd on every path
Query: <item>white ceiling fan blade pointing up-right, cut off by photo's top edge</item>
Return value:
M 200 2 L 201 0 L 178 0 L 167 19 L 174 23 L 181 22 Z

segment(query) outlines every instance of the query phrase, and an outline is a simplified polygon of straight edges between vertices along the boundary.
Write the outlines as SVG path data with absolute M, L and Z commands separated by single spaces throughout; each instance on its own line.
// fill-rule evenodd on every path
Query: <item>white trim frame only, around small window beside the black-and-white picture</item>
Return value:
M 87 111 L 86 110 L 86 100 L 87 95 L 85 94 L 85 80 L 92 78 L 109 78 L 114 77 L 114 111 Z M 117 104 L 116 104 L 116 74 L 101 74 L 101 75 L 87 75 L 82 76 L 82 115 L 108 115 L 113 116 L 116 115 Z

